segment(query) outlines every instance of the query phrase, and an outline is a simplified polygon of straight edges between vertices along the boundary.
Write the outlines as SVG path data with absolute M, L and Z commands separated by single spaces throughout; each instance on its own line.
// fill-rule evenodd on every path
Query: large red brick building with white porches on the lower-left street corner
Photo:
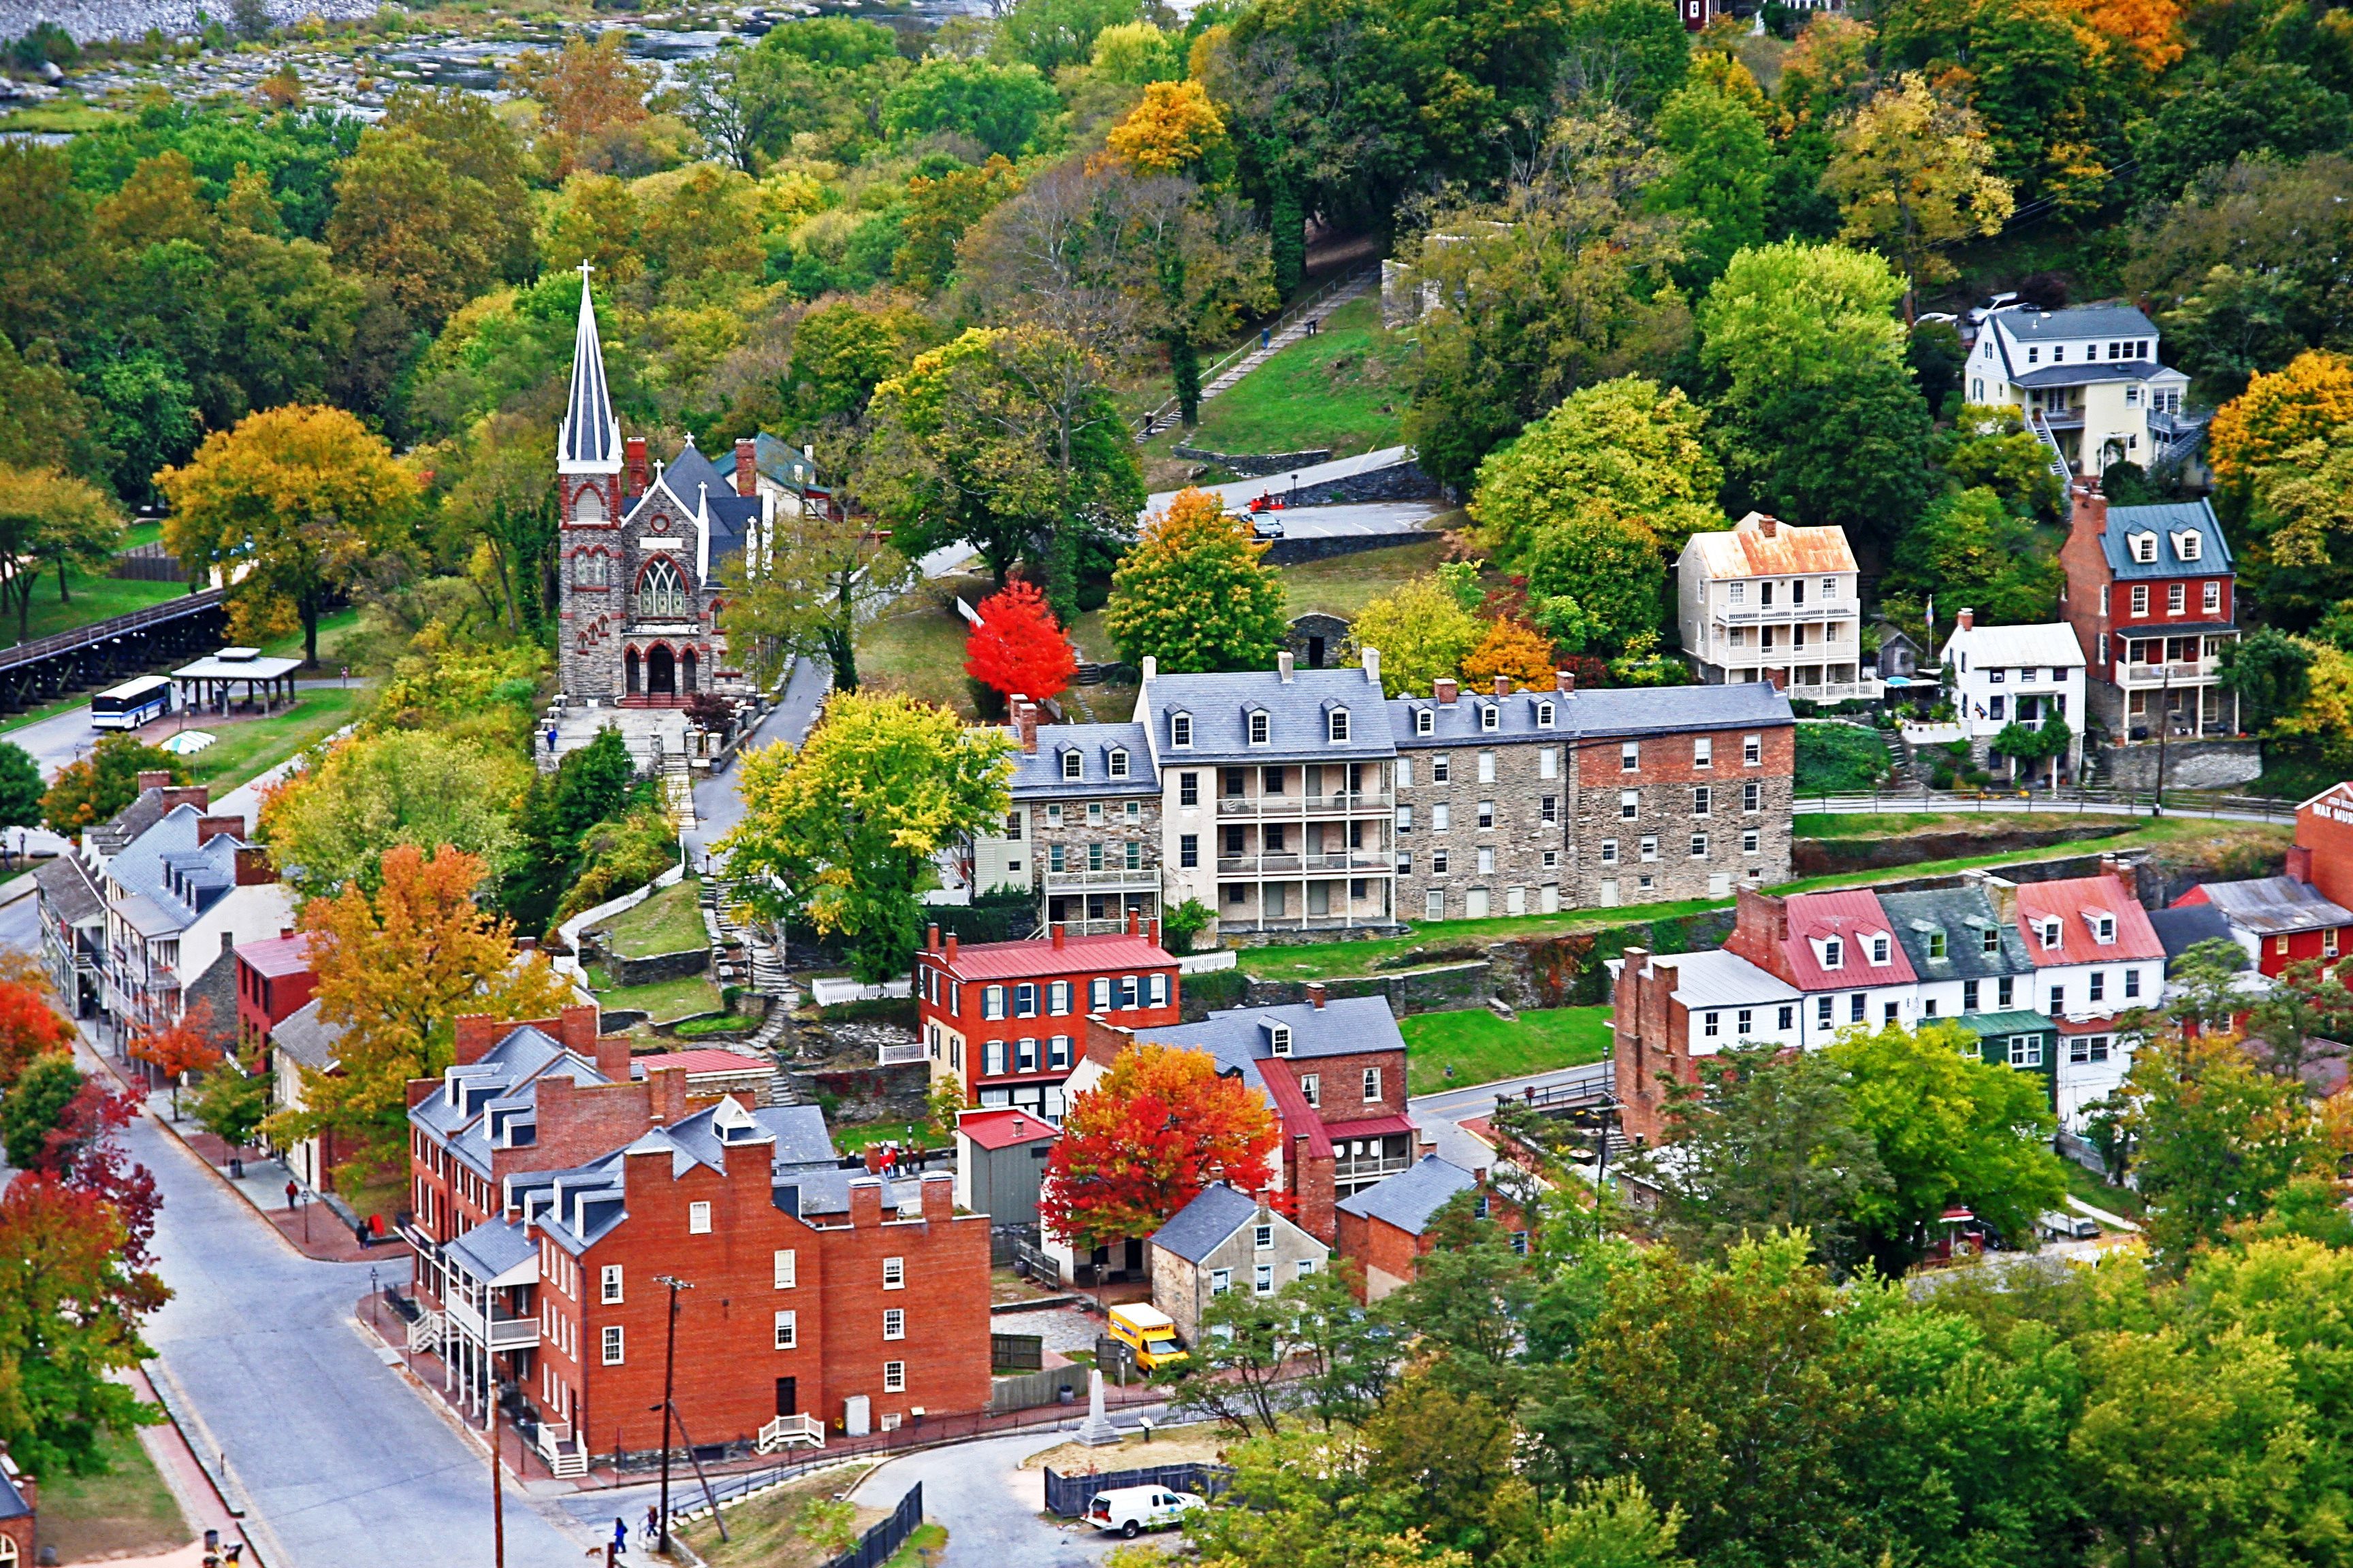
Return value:
M 459 1020 L 449 1072 L 409 1084 L 405 1222 L 449 1387 L 473 1410 L 520 1392 L 567 1474 L 659 1448 L 673 1276 L 696 1446 L 984 1408 L 988 1220 L 955 1215 L 953 1178 L 845 1168 L 816 1107 L 692 1077 L 631 1063 L 595 1009 Z

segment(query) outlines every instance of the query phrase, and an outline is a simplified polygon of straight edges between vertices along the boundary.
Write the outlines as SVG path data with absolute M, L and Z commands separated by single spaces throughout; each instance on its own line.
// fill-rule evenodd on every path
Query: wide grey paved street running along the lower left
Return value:
M 296 1255 L 153 1121 L 129 1147 L 162 1187 L 174 1291 L 148 1342 L 252 1495 L 266 1566 L 489 1561 L 482 1450 L 351 1321 L 369 1265 Z M 586 1547 L 508 1490 L 511 1568 L 576 1568 Z

